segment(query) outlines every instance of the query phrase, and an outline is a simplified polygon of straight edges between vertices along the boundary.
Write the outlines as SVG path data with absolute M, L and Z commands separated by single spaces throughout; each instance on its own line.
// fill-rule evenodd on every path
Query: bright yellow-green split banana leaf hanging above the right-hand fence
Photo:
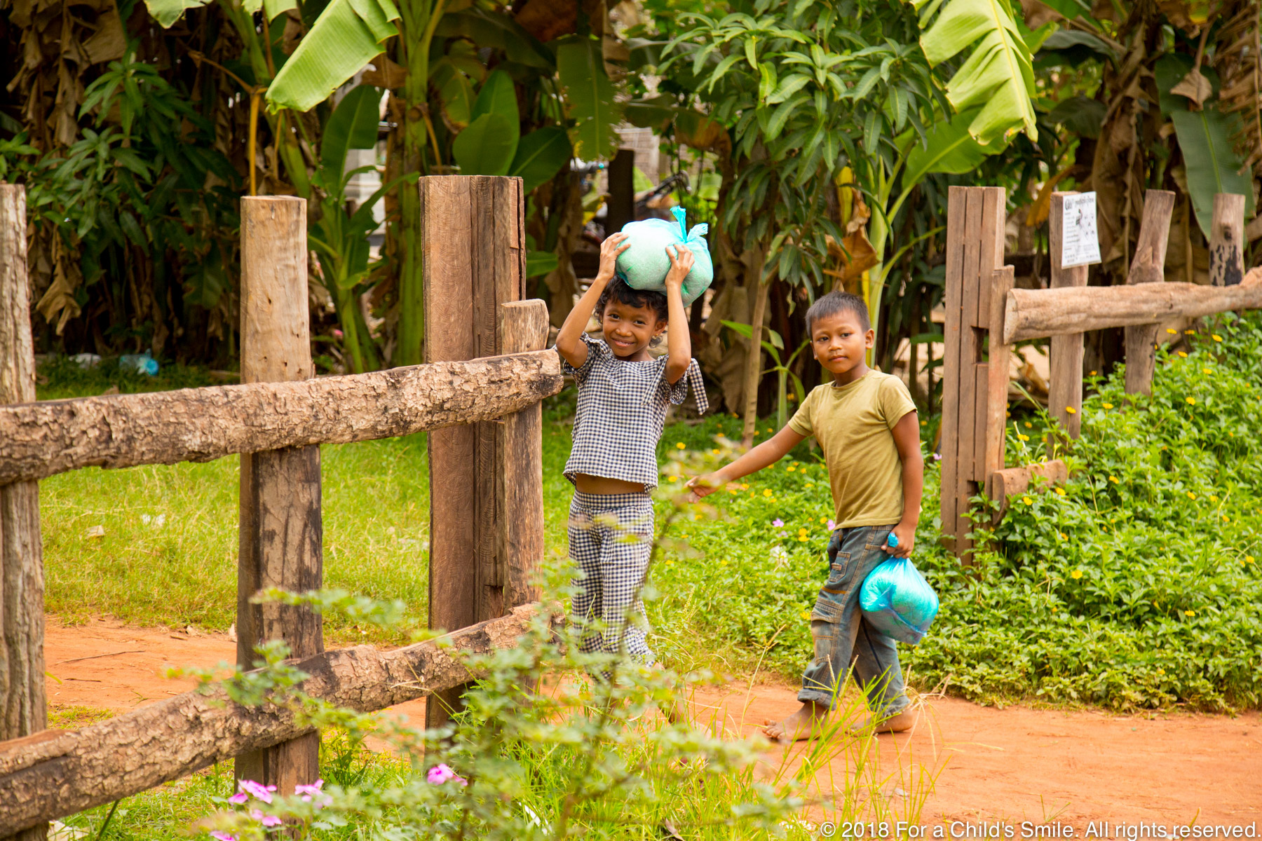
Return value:
M 921 28 L 939 13 L 920 35 L 930 64 L 973 48 L 946 83 L 946 97 L 957 111 L 981 108 L 968 126 L 969 134 L 983 145 L 1017 131 L 1037 140 L 1030 48 L 1007 0 L 915 0 L 915 6 Z

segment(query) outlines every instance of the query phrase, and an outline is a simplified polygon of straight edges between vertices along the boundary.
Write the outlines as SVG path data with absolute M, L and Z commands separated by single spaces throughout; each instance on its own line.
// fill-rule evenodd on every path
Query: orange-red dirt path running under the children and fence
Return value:
M 54 709 L 125 712 L 192 688 L 192 681 L 163 678 L 167 667 L 208 667 L 235 656 L 236 644 L 221 634 L 129 628 L 107 619 L 67 628 L 49 618 L 48 697 Z M 693 709 L 703 722 L 750 734 L 764 719 L 790 712 L 795 691 L 731 683 L 697 691 Z M 413 721 L 424 720 L 423 701 L 395 709 Z M 771 750 L 765 765 L 793 765 L 800 750 Z M 862 749 L 851 741 L 833 753 L 828 770 L 817 775 L 827 796 L 843 799 L 856 769 L 863 768 L 872 786 L 861 787 L 861 797 L 864 788 L 878 789 L 897 816 L 907 799 L 923 796 L 926 823 L 1056 820 L 1078 827 L 1078 837 L 1089 821 L 1252 823 L 1262 830 L 1257 712 L 1112 716 L 1025 706 L 998 710 L 934 697 L 925 700 L 912 733 L 880 736 Z M 1020 837 L 1020 826 L 1016 831 Z

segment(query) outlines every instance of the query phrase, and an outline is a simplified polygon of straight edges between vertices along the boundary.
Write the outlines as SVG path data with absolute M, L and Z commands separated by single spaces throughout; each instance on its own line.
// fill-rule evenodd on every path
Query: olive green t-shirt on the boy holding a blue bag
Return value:
M 901 380 L 868 371 L 846 386 L 817 386 L 789 421 L 824 450 L 838 528 L 902 519 L 902 459 L 891 430 L 914 411 Z

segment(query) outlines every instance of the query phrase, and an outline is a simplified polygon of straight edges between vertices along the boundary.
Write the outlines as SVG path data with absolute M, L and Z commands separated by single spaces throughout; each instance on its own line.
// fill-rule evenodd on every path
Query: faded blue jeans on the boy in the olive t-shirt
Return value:
M 892 530 L 893 526 L 838 528 L 828 541 L 828 583 L 810 612 L 815 659 L 801 676 L 799 701 L 834 709 L 853 668 L 873 715 L 897 715 L 909 705 L 893 639 L 873 628 L 859 609 L 859 588 L 868 572 L 888 557 L 885 541 Z

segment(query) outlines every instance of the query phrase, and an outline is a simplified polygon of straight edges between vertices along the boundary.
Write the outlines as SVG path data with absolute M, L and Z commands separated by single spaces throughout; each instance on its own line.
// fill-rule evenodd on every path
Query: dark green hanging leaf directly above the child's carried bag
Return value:
M 612 158 L 623 106 L 613 98 L 601 43 L 583 39 L 562 44 L 557 48 L 557 72 L 565 88 L 565 112 L 574 120 L 574 154 L 588 160 Z

